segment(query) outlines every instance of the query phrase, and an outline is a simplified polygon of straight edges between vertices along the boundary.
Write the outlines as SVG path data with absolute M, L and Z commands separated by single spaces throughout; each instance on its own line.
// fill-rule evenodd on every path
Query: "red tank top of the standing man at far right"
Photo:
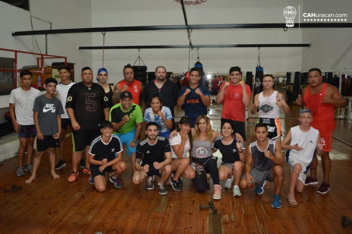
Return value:
M 334 121 L 335 106 L 321 103 L 327 86 L 327 83 L 323 83 L 323 87 L 318 94 L 311 94 L 310 85 L 308 85 L 303 97 L 305 108 L 310 109 L 313 114 L 313 121 L 310 126 L 322 132 L 332 131 L 336 128 Z

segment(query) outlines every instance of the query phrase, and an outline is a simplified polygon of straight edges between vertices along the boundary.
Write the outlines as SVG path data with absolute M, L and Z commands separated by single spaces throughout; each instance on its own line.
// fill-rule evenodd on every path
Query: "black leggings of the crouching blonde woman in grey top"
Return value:
M 207 189 L 207 175 L 209 173 L 214 185 L 219 185 L 219 170 L 217 162 L 214 157 L 210 157 L 204 163 L 199 163 L 198 165 L 203 165 L 204 170 L 199 170 L 195 167 L 195 177 L 193 179 L 193 184 L 198 192 L 203 192 Z

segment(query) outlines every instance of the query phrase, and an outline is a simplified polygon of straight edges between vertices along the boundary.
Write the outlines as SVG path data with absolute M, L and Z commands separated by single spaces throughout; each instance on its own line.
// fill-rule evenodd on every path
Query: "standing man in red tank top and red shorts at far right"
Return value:
M 318 193 L 327 193 L 330 189 L 329 177 L 331 172 L 331 160 L 329 152 L 331 151 L 332 133 L 335 127 L 334 109 L 346 105 L 346 99 L 339 93 L 335 86 L 322 83 L 321 70 L 311 68 L 308 71 L 309 85 L 302 90 L 302 97 L 298 95 L 296 103 L 300 106 L 310 109 L 313 114 L 313 121 L 310 126 L 319 130 L 320 141 L 323 144 L 323 154 L 320 155 L 324 181 L 319 186 Z M 317 185 L 317 166 L 318 158 L 314 154 L 310 166 L 310 176 L 305 179 L 304 185 Z

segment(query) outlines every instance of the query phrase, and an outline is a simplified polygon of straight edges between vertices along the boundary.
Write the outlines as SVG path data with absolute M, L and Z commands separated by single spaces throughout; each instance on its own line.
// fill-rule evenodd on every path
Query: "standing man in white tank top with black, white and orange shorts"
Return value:
M 286 103 L 284 95 L 274 90 L 272 75 L 264 75 L 262 84 L 263 91 L 254 96 L 250 111 L 252 114 L 258 112 L 258 122 L 268 126 L 268 138 L 281 142 L 280 108 L 285 114 L 290 114 L 290 106 Z

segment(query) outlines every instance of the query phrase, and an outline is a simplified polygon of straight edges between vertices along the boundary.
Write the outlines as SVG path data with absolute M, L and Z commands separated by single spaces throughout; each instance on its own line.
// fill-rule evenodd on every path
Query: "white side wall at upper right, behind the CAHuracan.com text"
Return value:
M 338 3 L 338 4 L 337 4 Z M 304 1 L 303 12 L 347 13 L 347 22 L 352 22 L 352 1 Z M 303 41 L 311 43 L 303 49 L 302 70 L 318 67 L 322 71 L 352 68 L 352 29 L 323 28 L 304 29 Z

